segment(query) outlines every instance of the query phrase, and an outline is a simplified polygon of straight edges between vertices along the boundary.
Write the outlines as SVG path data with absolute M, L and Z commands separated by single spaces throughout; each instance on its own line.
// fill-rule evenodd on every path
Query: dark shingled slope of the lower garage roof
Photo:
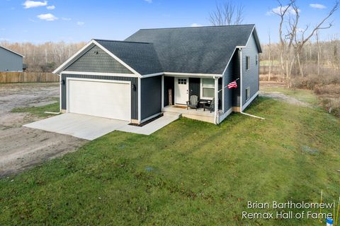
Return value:
M 147 42 L 121 42 L 95 40 L 116 57 L 121 59 L 141 75 L 162 72 L 162 66 L 154 50 L 154 45 Z

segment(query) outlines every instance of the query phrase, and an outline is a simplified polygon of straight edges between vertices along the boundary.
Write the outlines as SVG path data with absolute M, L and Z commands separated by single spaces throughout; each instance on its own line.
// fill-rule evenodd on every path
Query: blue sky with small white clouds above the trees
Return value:
M 334 1 L 297 0 L 300 29 L 316 25 Z M 271 13 L 278 7 L 276 0 L 234 0 L 234 4 L 244 5 L 243 23 L 256 24 L 261 43 L 268 43 L 269 32 L 272 42 L 278 41 L 279 20 Z M 0 0 L 0 42 L 124 40 L 141 28 L 210 25 L 215 5 L 215 0 Z M 322 30 L 322 39 L 340 38 L 340 11 L 331 20 L 334 26 Z

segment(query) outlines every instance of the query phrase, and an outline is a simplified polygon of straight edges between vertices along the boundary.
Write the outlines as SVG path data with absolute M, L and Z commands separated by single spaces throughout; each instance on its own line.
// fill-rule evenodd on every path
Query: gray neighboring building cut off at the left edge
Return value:
M 23 55 L 0 47 L 0 71 L 23 71 Z

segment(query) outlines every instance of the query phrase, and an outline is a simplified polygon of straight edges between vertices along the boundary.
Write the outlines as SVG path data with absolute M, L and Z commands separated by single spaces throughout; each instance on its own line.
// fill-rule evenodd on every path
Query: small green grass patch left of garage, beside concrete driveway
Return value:
M 58 98 L 59 100 L 59 98 Z M 60 112 L 60 102 L 55 102 L 50 105 L 40 106 L 40 107 L 18 107 L 11 110 L 13 113 L 30 113 L 37 117 L 47 117 L 54 114 L 47 114 L 45 112 Z

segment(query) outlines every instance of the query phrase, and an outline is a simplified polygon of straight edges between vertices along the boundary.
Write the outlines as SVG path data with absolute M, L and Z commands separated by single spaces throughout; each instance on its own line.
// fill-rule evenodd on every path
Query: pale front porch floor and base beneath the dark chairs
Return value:
M 200 121 L 207 121 L 210 123 L 215 123 L 215 112 L 211 112 L 207 109 L 205 111 L 203 108 L 198 109 L 186 109 L 183 105 L 168 105 L 162 108 L 162 112 L 171 112 L 181 114 L 182 117 L 189 119 L 196 119 Z

